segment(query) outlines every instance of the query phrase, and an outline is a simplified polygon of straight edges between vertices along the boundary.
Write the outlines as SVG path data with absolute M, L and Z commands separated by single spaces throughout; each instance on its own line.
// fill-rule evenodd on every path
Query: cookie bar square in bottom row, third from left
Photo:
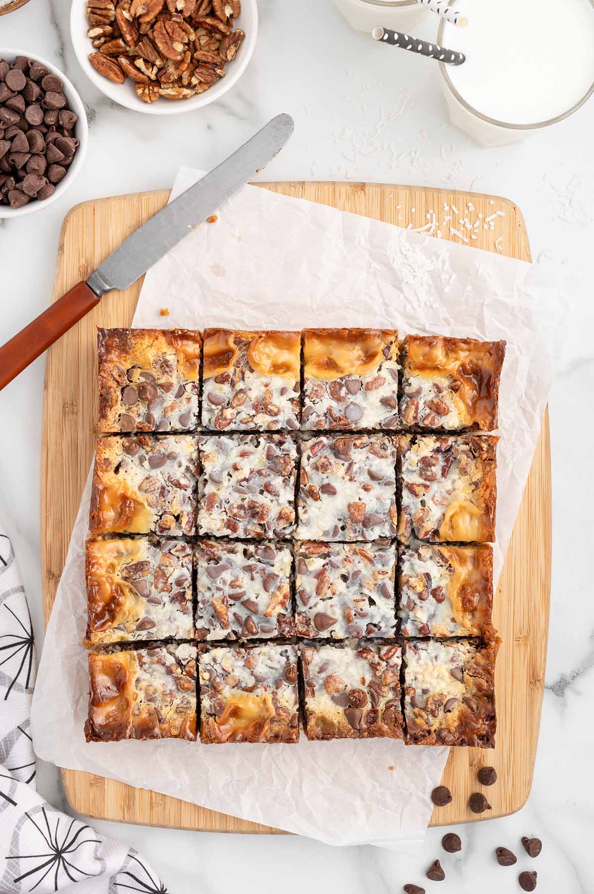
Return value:
M 307 738 L 403 738 L 399 645 L 307 645 L 300 656 Z

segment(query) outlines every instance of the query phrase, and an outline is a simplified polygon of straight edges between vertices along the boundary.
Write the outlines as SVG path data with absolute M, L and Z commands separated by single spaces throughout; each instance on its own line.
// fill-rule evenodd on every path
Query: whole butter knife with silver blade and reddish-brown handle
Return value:
M 202 223 L 262 170 L 295 130 L 288 114 L 279 114 L 261 131 L 130 233 L 96 270 L 0 348 L 0 391 L 63 333 L 88 314 L 106 291 L 123 291 L 145 274 L 174 245 Z

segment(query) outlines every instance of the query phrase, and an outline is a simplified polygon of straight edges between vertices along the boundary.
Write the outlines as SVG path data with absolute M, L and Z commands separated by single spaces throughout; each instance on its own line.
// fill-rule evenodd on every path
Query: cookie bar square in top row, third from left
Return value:
M 393 428 L 398 341 L 392 329 L 305 329 L 301 427 Z

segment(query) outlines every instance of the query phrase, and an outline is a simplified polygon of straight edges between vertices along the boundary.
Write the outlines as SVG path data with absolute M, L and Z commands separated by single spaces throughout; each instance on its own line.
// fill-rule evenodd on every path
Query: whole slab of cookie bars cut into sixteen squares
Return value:
M 98 352 L 89 742 L 199 718 L 204 744 L 292 743 L 301 717 L 494 745 L 505 342 L 102 329 Z

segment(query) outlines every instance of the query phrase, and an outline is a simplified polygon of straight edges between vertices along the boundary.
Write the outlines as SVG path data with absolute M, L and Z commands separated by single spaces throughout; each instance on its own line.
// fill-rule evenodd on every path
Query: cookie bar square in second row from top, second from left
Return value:
M 203 436 L 198 446 L 199 534 L 291 536 L 297 447 L 288 435 Z

